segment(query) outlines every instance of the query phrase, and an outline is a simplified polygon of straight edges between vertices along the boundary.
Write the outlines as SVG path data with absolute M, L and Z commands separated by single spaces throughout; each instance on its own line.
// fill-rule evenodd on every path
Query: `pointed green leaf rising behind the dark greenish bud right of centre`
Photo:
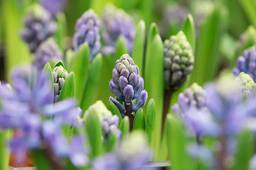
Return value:
M 195 54 L 195 23 L 191 14 L 188 14 L 186 20 L 184 21 L 182 31 L 186 35 L 189 44 L 193 49 L 193 53 Z

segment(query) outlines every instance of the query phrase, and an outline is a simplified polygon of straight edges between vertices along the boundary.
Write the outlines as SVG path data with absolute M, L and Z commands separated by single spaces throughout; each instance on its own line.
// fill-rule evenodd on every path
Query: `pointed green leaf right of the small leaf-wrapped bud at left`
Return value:
M 57 102 L 70 98 L 75 99 L 75 76 L 73 72 L 70 72 L 70 74 L 68 74 L 67 78 L 65 79 L 61 89 L 61 94 L 58 96 Z

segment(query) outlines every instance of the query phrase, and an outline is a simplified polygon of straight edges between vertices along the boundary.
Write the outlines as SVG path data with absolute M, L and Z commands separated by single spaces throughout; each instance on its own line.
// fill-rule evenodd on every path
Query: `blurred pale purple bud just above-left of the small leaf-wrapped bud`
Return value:
M 42 71 L 47 62 L 63 60 L 63 54 L 53 38 L 48 38 L 39 45 L 33 55 L 33 65 Z

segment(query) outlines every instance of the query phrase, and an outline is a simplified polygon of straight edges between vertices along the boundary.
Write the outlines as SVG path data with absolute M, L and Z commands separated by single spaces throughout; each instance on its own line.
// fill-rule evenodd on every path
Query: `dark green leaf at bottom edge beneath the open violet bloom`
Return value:
M 49 163 L 49 159 L 47 158 L 44 150 L 36 149 L 32 150 L 32 157 L 34 161 L 34 166 L 37 170 L 53 170 L 53 167 L 51 167 L 51 164 Z

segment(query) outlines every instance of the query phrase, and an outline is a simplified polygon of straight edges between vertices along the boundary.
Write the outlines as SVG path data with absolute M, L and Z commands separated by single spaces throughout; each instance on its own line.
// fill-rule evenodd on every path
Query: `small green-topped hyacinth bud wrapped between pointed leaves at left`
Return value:
M 57 101 L 58 95 L 61 94 L 61 89 L 63 87 L 64 81 L 67 78 L 68 73 L 63 68 L 62 65 L 53 68 L 52 70 L 52 77 L 54 83 L 54 102 Z

